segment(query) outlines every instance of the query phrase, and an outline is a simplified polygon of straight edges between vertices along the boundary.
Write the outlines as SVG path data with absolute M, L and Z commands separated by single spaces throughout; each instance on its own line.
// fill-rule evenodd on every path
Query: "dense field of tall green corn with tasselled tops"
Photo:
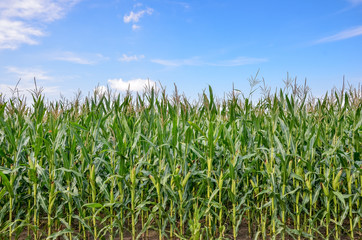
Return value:
M 1 98 L 0 239 L 361 239 L 361 93 Z

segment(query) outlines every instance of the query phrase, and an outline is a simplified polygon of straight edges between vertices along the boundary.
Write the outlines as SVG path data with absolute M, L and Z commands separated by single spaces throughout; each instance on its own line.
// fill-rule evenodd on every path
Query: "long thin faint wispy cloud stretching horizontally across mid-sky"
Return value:
M 249 58 L 249 57 L 238 57 L 235 59 L 224 60 L 224 61 L 215 61 L 208 62 L 203 61 L 199 57 L 193 57 L 189 59 L 152 59 L 151 62 L 157 63 L 160 65 L 168 66 L 168 67 L 181 67 L 181 66 L 219 66 L 219 67 L 235 67 L 242 66 L 247 64 L 257 64 L 266 62 L 268 59 L 266 58 Z

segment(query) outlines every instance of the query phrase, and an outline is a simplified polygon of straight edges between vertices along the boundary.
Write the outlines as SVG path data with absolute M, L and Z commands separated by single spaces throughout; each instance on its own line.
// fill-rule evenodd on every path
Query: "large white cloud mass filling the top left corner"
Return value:
M 0 49 L 37 44 L 44 36 L 40 26 L 61 19 L 81 0 L 1 0 Z

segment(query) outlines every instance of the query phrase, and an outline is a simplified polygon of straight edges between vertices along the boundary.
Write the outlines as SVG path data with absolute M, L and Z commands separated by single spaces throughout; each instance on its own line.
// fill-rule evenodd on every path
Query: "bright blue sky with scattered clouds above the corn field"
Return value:
M 315 95 L 362 82 L 362 0 L 1 0 L 0 92 L 33 78 L 49 98 L 149 80 L 195 97 L 249 92 L 250 76 Z

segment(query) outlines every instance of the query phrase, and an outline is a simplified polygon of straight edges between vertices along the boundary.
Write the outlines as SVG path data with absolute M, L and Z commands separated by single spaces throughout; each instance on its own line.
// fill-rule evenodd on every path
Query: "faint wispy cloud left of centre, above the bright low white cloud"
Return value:
M 80 56 L 73 52 L 62 52 L 57 53 L 54 59 L 76 64 L 94 65 L 107 58 L 104 57 L 102 54 L 87 54 L 87 56 Z

